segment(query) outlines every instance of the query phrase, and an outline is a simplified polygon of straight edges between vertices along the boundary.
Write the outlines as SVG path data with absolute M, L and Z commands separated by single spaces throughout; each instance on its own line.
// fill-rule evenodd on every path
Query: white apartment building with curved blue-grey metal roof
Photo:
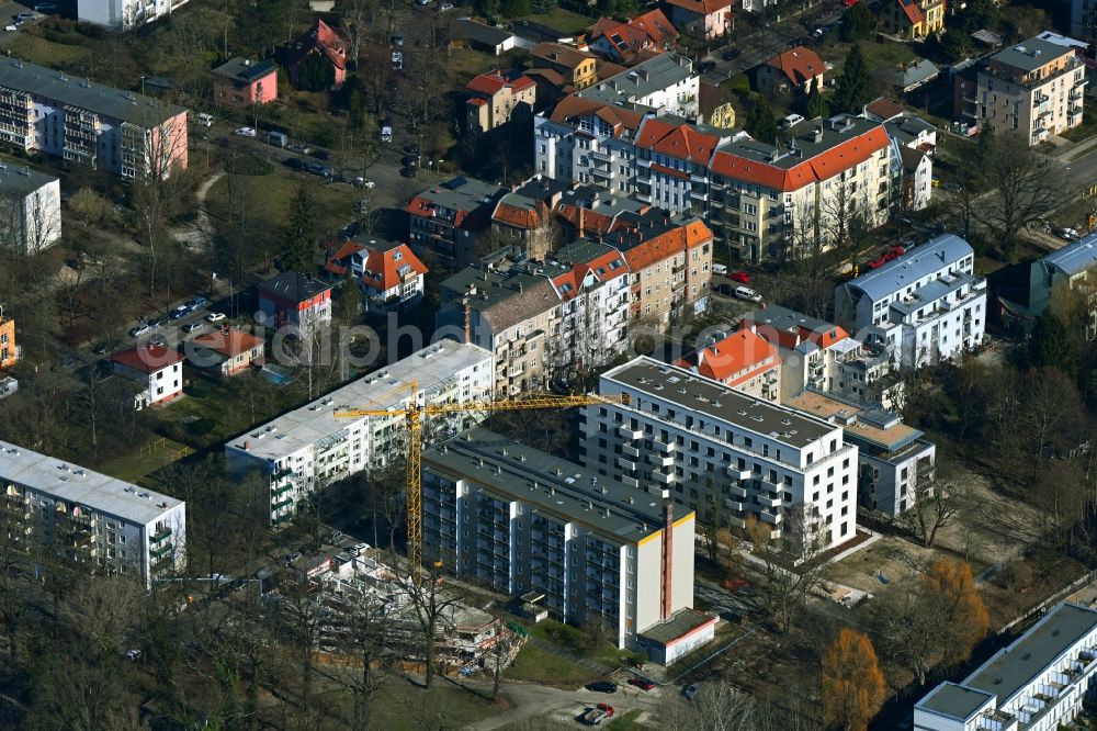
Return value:
M 968 241 L 943 234 L 835 289 L 835 320 L 914 369 L 983 341 L 986 280 Z

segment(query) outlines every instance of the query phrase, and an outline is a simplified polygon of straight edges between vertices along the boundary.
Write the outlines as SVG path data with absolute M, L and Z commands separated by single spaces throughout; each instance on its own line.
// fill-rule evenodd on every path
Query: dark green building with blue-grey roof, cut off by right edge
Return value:
M 1029 265 L 1027 291 L 998 292 L 998 306 L 1005 323 L 1031 330 L 1036 319 L 1051 303 L 1052 293 L 1072 289 L 1089 297 L 1090 313 L 1097 312 L 1093 302 L 1095 280 L 1089 272 L 1097 268 L 1097 234 L 1089 234 L 1044 255 Z M 1027 295 L 1027 296 L 1026 296 Z M 1090 314 L 1090 328 L 1097 335 L 1097 315 Z

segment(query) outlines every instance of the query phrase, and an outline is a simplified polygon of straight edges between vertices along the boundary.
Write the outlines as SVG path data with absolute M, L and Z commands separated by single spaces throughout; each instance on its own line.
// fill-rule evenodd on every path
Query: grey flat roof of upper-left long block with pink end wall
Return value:
M 0 63 L 0 87 L 71 104 L 142 126 L 160 124 L 186 110 L 151 97 L 97 83 L 18 58 Z

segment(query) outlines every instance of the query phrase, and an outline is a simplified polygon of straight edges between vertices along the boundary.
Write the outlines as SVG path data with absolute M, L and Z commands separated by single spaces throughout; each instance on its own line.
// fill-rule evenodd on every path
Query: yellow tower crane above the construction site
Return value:
M 412 398 L 419 392 L 419 384 L 411 381 L 405 386 Z M 397 416 L 407 423 L 407 521 L 408 521 L 408 567 L 412 576 L 419 575 L 422 565 L 422 421 L 426 416 L 462 414 L 470 412 L 513 412 L 541 408 L 570 408 L 588 404 L 629 404 L 629 395 L 557 395 L 551 393 L 525 394 L 521 398 L 500 401 L 468 401 L 463 404 L 423 404 L 412 402 L 406 408 L 351 408 L 336 412 L 336 416 Z

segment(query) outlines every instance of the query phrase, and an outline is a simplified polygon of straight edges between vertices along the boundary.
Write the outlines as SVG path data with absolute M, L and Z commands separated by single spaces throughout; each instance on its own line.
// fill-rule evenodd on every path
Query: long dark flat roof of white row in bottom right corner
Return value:
M 1064 601 L 983 663 L 963 685 L 993 693 L 998 704 L 1005 705 L 1095 628 L 1097 609 Z

